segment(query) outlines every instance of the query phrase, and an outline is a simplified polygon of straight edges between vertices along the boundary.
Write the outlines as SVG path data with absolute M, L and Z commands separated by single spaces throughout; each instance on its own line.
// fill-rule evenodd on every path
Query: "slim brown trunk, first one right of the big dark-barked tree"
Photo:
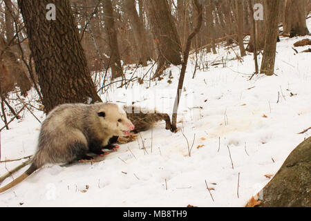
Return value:
M 111 0 L 104 0 L 103 3 L 105 28 L 109 38 L 109 46 L 111 49 L 110 65 L 112 79 L 115 79 L 117 77 L 123 77 L 119 46 L 117 44 L 117 31 L 115 30 L 115 21 L 113 19 L 113 7 Z

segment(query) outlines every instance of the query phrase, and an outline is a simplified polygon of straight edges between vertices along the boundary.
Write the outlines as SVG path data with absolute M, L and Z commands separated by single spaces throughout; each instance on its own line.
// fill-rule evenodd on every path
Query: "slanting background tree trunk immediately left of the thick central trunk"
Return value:
M 142 23 L 135 8 L 135 0 L 124 0 L 122 4 L 134 32 L 135 45 L 140 55 L 140 63 L 142 66 L 147 66 L 147 60 L 150 58 L 147 49 L 147 34 L 144 30 L 144 23 Z

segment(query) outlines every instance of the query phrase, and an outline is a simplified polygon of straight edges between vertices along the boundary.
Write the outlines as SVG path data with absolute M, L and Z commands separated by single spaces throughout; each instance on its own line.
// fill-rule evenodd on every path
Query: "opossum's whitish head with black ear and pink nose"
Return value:
M 131 135 L 135 126 L 127 119 L 125 111 L 117 104 L 106 104 L 97 112 L 100 124 L 115 136 Z

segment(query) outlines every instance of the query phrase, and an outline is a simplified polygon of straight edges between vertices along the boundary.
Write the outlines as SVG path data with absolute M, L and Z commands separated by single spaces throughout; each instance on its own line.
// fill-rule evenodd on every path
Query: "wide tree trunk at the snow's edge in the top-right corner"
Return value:
M 305 23 L 305 0 L 286 0 L 283 21 L 283 33 L 294 37 L 305 36 L 309 33 Z

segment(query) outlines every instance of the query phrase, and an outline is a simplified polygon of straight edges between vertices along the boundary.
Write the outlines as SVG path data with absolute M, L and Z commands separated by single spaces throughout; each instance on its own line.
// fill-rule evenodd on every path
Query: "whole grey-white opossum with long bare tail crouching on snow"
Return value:
M 41 125 L 37 152 L 29 169 L 0 188 L 0 193 L 19 184 L 45 164 L 66 164 L 89 160 L 87 153 L 102 154 L 111 148 L 113 136 L 131 135 L 135 126 L 125 111 L 111 103 L 62 104 L 51 111 Z

